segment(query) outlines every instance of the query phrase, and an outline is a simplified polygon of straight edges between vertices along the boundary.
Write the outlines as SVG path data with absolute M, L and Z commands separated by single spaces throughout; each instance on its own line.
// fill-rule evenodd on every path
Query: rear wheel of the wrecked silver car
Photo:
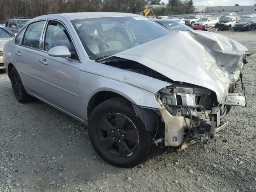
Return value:
M 27 103 L 33 100 L 33 97 L 28 95 L 28 93 L 26 92 L 22 84 L 20 75 L 14 67 L 11 70 L 10 80 L 12 82 L 12 90 L 14 92 L 14 95 L 19 102 Z

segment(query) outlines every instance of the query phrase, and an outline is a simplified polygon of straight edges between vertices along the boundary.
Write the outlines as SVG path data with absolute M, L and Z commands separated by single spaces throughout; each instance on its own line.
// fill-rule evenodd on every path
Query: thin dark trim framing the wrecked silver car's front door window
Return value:
M 46 37 L 46 31 L 47 31 L 48 25 L 49 25 L 49 23 L 50 23 L 51 21 L 57 22 L 58 24 L 62 25 L 62 26 L 65 28 L 66 32 L 68 32 L 68 36 L 70 37 L 70 40 L 72 41 L 72 43 L 73 43 L 73 45 L 74 45 L 74 48 L 76 49 L 76 54 L 78 55 L 79 60 L 72 59 L 72 58 L 69 58 L 69 57 L 64 57 L 64 58 L 66 58 L 66 59 L 68 59 L 68 60 L 72 60 L 72 61 L 78 62 L 78 63 L 81 63 L 81 58 L 80 58 L 79 53 L 78 53 L 78 51 L 77 51 L 76 44 L 74 43 L 74 40 L 73 40 L 72 36 L 70 35 L 70 32 L 68 31 L 68 28 L 67 28 L 66 25 L 65 25 L 63 22 L 61 22 L 60 20 L 56 20 L 56 19 L 48 19 L 48 20 L 47 20 L 47 22 L 46 22 L 47 24 L 46 24 L 46 26 L 45 26 L 45 28 L 44 28 L 44 31 L 43 31 L 42 42 L 41 42 L 41 48 L 40 48 L 39 51 L 48 53 L 48 51 L 45 51 L 45 50 L 43 50 L 43 49 L 44 49 L 44 42 L 45 42 L 45 37 Z

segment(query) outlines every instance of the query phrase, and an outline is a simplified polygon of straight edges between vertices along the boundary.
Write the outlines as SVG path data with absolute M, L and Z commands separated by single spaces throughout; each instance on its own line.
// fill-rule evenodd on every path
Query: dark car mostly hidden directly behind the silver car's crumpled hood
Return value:
M 168 30 L 170 30 L 171 32 L 177 32 L 180 30 L 192 30 L 190 27 L 171 19 L 155 20 L 155 21 L 160 25 L 164 26 L 165 28 L 167 28 Z

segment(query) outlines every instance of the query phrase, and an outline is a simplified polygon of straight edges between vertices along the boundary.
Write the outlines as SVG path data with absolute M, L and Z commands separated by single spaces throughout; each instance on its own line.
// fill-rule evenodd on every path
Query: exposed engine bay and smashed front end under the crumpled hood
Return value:
M 162 107 L 162 109 L 156 110 L 156 113 L 164 122 L 162 135 L 160 130 L 156 130 L 159 132 L 158 136 L 154 138 L 156 144 L 164 142 L 165 146 L 181 146 L 183 149 L 195 142 L 204 142 L 209 137 L 213 138 L 216 131 L 228 125 L 228 122 L 220 120 L 230 111 L 231 106 L 246 105 L 244 96 L 235 93 L 236 82 L 230 84 L 226 102 L 220 104 L 212 90 L 184 82 L 175 82 L 138 62 L 113 57 L 102 63 L 170 83 L 170 86 L 162 88 L 155 95 Z M 242 81 L 242 74 L 237 81 L 240 80 Z M 137 116 L 144 115 L 137 111 Z M 144 124 L 154 124 L 150 121 L 147 122 L 145 118 L 143 122 Z

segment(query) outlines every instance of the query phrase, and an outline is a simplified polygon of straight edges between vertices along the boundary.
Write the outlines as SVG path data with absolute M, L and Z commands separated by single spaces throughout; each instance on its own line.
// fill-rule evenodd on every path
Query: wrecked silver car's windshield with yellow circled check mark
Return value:
M 165 28 L 140 16 L 77 19 L 71 22 L 87 54 L 94 60 L 170 34 Z

